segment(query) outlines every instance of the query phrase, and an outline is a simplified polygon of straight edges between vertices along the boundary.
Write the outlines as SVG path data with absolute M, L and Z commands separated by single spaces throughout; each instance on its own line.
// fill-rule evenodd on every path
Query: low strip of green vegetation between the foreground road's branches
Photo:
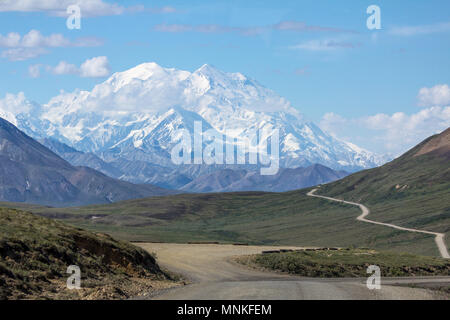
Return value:
M 450 262 L 444 259 L 369 249 L 264 253 L 236 261 L 305 277 L 367 277 L 370 265 L 379 266 L 383 277 L 450 275 Z

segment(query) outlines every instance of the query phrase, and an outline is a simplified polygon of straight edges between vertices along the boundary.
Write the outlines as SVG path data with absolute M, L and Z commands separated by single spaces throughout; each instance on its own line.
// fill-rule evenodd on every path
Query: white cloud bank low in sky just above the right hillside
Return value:
M 361 118 L 327 113 L 320 126 L 338 138 L 369 150 L 398 156 L 426 137 L 450 127 L 450 107 L 429 107 L 410 115 L 379 113 Z

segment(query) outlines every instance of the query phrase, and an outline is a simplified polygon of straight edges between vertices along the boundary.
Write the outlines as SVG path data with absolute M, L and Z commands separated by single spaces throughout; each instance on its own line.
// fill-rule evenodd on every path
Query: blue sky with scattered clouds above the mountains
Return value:
M 0 99 L 24 92 L 46 103 L 60 90 L 90 90 L 106 73 L 82 76 L 80 66 L 104 56 L 108 74 L 148 61 L 244 73 L 329 132 L 382 153 L 450 125 L 449 1 L 85 0 L 80 30 L 66 27 L 75 1 L 66 2 L 0 4 Z M 381 30 L 366 27 L 372 4 Z M 31 30 L 63 40 L 7 42 Z M 61 61 L 71 67 L 52 69 Z

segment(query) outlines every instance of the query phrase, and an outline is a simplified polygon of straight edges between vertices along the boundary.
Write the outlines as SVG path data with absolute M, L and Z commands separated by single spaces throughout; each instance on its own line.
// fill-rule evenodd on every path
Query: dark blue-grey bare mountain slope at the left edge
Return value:
M 75 167 L 0 118 L 0 199 L 45 205 L 109 203 L 171 194 L 135 185 L 94 169 Z

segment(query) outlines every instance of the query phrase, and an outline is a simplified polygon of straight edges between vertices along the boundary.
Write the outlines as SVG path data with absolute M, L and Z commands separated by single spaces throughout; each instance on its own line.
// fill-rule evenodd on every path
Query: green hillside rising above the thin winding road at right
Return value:
M 325 185 L 318 193 L 364 203 L 373 220 L 445 233 L 450 247 L 450 153 L 416 156 L 432 139 L 382 167 Z

